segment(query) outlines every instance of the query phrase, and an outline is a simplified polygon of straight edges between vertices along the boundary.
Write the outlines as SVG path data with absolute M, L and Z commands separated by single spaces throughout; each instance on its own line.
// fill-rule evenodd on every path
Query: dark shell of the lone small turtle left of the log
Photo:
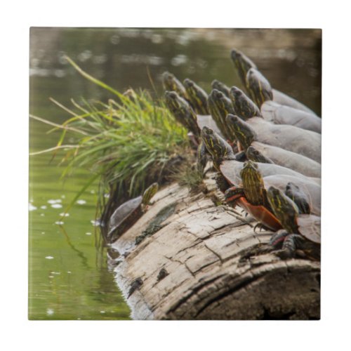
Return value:
M 143 214 L 143 197 L 135 197 L 117 207 L 110 218 L 107 237 L 110 241 L 117 239 L 126 232 Z

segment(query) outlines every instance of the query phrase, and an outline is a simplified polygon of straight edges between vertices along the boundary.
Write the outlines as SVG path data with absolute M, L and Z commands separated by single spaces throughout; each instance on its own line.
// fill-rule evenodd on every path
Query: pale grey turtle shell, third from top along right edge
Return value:
M 272 124 L 261 117 L 253 117 L 246 123 L 256 132 L 256 141 L 282 147 L 284 150 L 321 162 L 322 138 L 319 133 L 296 126 Z

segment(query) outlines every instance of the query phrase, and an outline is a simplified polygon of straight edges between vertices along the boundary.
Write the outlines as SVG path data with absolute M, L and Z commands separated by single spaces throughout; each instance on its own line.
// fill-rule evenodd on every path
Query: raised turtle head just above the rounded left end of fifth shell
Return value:
M 211 154 L 213 163 L 216 166 L 225 159 L 235 158 L 232 147 L 211 128 L 208 128 L 207 126 L 202 128 L 201 139 L 206 146 L 207 151 Z

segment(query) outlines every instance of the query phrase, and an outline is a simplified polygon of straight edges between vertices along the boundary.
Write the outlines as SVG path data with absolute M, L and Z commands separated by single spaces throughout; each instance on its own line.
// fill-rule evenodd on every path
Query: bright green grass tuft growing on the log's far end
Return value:
M 92 176 L 81 191 L 100 178 L 99 214 L 103 221 L 121 202 L 141 194 L 154 181 L 162 183 L 182 161 L 181 155 L 190 152 L 190 143 L 187 131 L 163 100 L 155 101 L 141 90 L 120 93 L 67 60 L 86 79 L 114 95 L 108 102 L 72 100 L 72 109 L 52 99 L 69 117 L 61 125 L 45 121 L 54 126 L 53 130 L 62 129 L 56 147 L 50 149 L 53 157 L 69 146 L 61 159 L 65 164 L 62 177 L 76 168 L 88 169 Z M 110 194 L 107 203 L 106 192 Z

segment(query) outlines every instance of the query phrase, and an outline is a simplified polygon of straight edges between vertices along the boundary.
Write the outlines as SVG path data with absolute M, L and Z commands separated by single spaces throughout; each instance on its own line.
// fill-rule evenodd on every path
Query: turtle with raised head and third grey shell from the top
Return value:
M 247 150 L 253 141 L 258 141 L 321 162 L 322 139 L 319 133 L 296 126 L 271 124 L 261 117 L 252 117 L 244 121 L 228 114 L 227 123 L 239 141 L 239 150 Z

